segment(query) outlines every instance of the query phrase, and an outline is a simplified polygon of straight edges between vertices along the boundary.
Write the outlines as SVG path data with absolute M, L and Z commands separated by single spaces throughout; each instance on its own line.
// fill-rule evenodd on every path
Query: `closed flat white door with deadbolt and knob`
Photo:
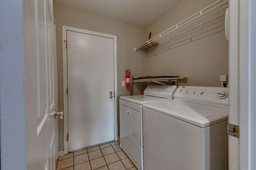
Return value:
M 68 151 L 113 141 L 114 39 L 67 31 L 67 43 Z

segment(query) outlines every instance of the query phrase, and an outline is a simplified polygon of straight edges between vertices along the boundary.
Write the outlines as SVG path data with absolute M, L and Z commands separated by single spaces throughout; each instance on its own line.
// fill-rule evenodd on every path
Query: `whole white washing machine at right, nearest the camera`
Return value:
M 144 170 L 228 170 L 228 88 L 180 86 L 142 112 Z

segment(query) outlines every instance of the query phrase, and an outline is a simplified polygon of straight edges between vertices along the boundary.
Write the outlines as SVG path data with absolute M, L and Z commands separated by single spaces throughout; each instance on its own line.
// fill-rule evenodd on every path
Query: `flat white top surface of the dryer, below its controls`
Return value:
M 155 96 L 146 96 L 146 95 L 138 95 L 138 96 L 120 96 L 120 99 L 126 100 L 128 102 L 136 103 L 139 105 L 143 105 L 150 102 L 160 102 L 164 100 L 171 100 L 168 98 L 160 98 Z

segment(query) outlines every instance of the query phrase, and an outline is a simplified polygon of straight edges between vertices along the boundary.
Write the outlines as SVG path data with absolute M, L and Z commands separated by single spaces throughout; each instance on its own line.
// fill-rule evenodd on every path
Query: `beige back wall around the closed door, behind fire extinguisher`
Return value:
M 125 70 L 130 69 L 134 77 L 146 75 L 146 58 L 138 53 L 134 53 L 135 44 L 139 44 L 144 41 L 146 27 L 78 10 L 76 8 L 71 8 L 57 3 L 55 3 L 55 20 L 58 55 L 59 111 L 63 110 L 62 25 L 117 36 L 118 91 L 116 96 L 118 97 L 118 101 L 119 96 L 130 95 L 130 88 L 127 89 L 125 87 L 121 87 L 121 81 L 125 80 Z M 59 121 L 59 129 L 59 150 L 63 150 L 63 121 Z

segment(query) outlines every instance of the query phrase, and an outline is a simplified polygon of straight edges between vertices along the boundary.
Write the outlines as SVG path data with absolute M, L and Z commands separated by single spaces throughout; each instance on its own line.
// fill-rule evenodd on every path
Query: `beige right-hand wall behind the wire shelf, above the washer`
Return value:
M 146 27 L 146 39 L 185 20 L 216 0 L 180 0 L 170 10 Z M 221 21 L 222 22 L 222 21 Z M 170 49 L 158 47 L 157 56 L 147 58 L 148 76 L 188 76 L 190 86 L 221 86 L 220 75 L 228 74 L 228 41 L 224 26 L 202 26 L 201 30 L 170 44 Z

